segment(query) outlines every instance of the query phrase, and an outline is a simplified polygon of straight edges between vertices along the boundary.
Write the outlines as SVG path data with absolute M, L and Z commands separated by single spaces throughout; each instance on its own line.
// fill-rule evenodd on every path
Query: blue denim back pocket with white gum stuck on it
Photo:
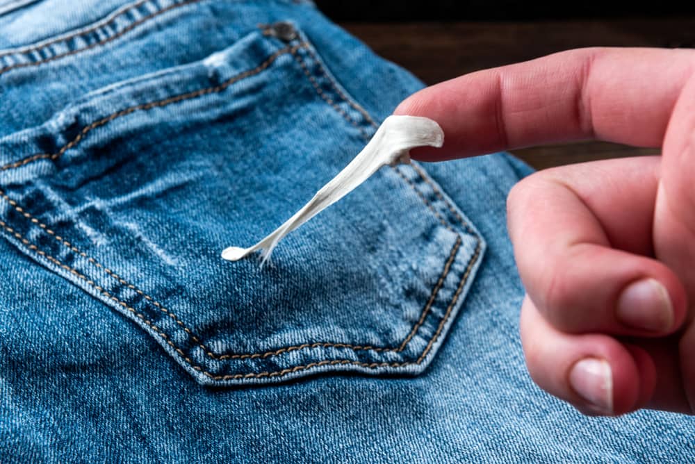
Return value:
M 0 226 L 200 383 L 418 374 L 484 251 L 418 165 L 377 172 L 263 267 L 220 258 L 290 217 L 375 126 L 297 28 L 264 27 L 0 140 Z

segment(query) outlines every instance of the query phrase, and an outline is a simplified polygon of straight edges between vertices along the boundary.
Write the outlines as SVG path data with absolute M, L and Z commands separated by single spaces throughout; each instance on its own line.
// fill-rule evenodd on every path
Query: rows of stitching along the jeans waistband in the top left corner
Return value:
M 124 13 L 126 13 L 130 10 L 134 10 L 134 9 L 138 8 L 139 6 L 142 6 L 142 4 L 147 3 L 147 1 L 149 1 L 149 0 L 138 1 L 138 3 L 134 3 L 129 8 L 122 10 L 118 15 L 116 15 L 115 17 L 112 17 L 107 22 L 103 22 L 99 25 L 95 25 L 93 28 L 88 28 L 85 31 L 79 31 L 77 33 L 74 33 L 73 35 L 67 35 L 64 38 L 57 38 L 56 40 L 52 40 L 51 42 L 47 42 L 46 44 L 41 44 L 41 45 L 38 45 L 36 47 L 30 47 L 30 48 L 26 49 L 26 51 L 24 51 L 24 50 L 7 51 L 4 54 L 0 54 L 0 58 L 2 58 L 3 56 L 12 55 L 14 53 L 31 53 L 31 51 L 38 51 L 38 50 L 44 49 L 45 47 L 50 47 L 51 45 L 56 44 L 58 42 L 63 42 L 66 40 L 76 38 L 79 35 L 84 35 L 84 34 L 88 34 L 88 33 L 97 31 L 99 28 L 106 26 L 107 24 L 110 24 L 111 22 L 115 21 L 115 19 L 118 16 L 123 15 Z M 44 58 L 44 59 L 38 60 L 38 61 L 32 61 L 29 63 L 17 63 L 15 65 L 6 66 L 3 68 L 0 68 L 0 75 L 5 74 L 6 72 L 11 71 L 12 69 L 17 69 L 17 68 L 22 68 L 22 67 L 39 66 L 39 65 L 42 65 L 44 63 L 49 63 L 51 61 L 58 60 L 60 58 L 65 58 L 66 56 L 76 55 L 77 53 L 81 53 L 81 52 L 86 51 L 86 50 L 100 47 L 103 44 L 106 44 L 108 42 L 112 42 L 113 40 L 120 38 L 122 35 L 129 33 L 134 28 L 140 26 L 140 24 L 144 24 L 145 22 L 149 21 L 150 19 L 153 19 L 154 17 L 162 15 L 163 13 L 167 13 L 167 11 L 174 10 L 175 8 L 179 8 L 181 6 L 187 6 L 187 5 L 190 5 L 191 3 L 198 3 L 199 1 L 202 1 L 202 0 L 186 0 L 186 1 L 182 1 L 181 3 L 174 3 L 173 5 L 167 6 L 165 8 L 162 8 L 161 10 L 157 10 L 154 13 L 151 13 L 145 17 L 142 17 L 142 18 L 138 19 L 137 21 L 132 22 L 128 26 L 124 27 L 121 31 L 118 31 L 114 35 L 111 35 L 110 37 L 99 40 L 98 42 L 95 42 L 93 44 L 89 44 L 86 47 L 82 47 L 80 49 L 75 49 L 75 50 L 71 50 L 71 51 L 66 51 L 65 53 L 58 53 L 57 55 L 51 56 L 49 58 Z

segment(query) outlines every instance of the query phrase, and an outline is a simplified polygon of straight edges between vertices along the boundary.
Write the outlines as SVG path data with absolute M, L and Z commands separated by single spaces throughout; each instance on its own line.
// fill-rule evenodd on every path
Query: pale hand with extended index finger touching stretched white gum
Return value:
M 695 51 L 564 51 L 434 85 L 395 113 L 442 126 L 441 149 L 413 154 L 427 161 L 586 139 L 662 150 L 512 189 L 521 341 L 532 379 L 582 413 L 694 413 Z

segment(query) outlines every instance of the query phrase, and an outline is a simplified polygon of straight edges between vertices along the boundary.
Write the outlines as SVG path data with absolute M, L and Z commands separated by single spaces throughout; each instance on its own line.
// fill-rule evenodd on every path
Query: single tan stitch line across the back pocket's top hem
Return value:
M 129 115 L 131 113 L 135 113 L 136 111 L 140 110 L 150 110 L 152 108 L 161 108 L 163 106 L 170 105 L 171 103 L 177 103 L 179 101 L 184 101 L 184 100 L 189 100 L 197 97 L 202 97 L 203 95 L 206 94 L 213 94 L 213 93 L 218 93 L 221 92 L 222 90 L 226 89 L 229 87 L 229 85 L 232 85 L 238 81 L 240 81 L 243 78 L 247 78 L 250 76 L 254 76 L 255 74 L 259 74 L 259 72 L 263 71 L 263 69 L 267 68 L 272 64 L 273 61 L 277 59 L 278 56 L 281 56 L 284 53 L 292 53 L 295 54 L 297 49 L 300 49 L 302 47 L 306 47 L 307 44 L 305 42 L 302 42 L 300 44 L 294 45 L 292 47 L 284 47 L 283 49 L 279 49 L 275 53 L 272 53 L 268 58 L 266 58 L 263 63 L 258 65 L 257 67 L 254 67 L 254 69 L 250 69 L 248 71 L 242 72 L 240 74 L 236 74 L 236 76 L 231 77 L 227 79 L 227 81 L 224 81 L 223 83 L 219 85 L 215 85 L 213 87 L 206 87 L 202 88 L 199 90 L 195 90 L 193 92 L 187 92 L 185 94 L 179 94 L 175 95 L 174 97 L 169 97 L 167 99 L 163 100 L 157 100 L 157 101 L 149 101 L 148 103 L 141 103 L 140 105 L 136 106 L 131 106 L 129 108 L 125 108 L 124 110 L 117 111 L 116 113 L 111 113 L 111 115 L 108 115 L 106 117 L 102 117 L 101 119 L 97 119 L 95 122 L 92 122 L 88 126 L 85 126 L 82 128 L 82 130 L 76 135 L 76 137 L 70 142 L 67 142 L 66 144 L 63 145 L 63 147 L 60 147 L 58 151 L 54 154 L 48 154 L 48 153 L 40 153 L 40 154 L 35 154 L 32 156 L 28 156 L 27 158 L 24 158 L 23 160 L 15 161 L 14 163 L 8 163 L 6 165 L 3 165 L 0 167 L 0 171 L 6 171 L 7 169 L 15 169 L 16 167 L 21 167 L 24 165 L 27 165 L 28 163 L 33 163 L 33 161 L 40 160 L 40 159 L 45 159 L 45 158 L 51 158 L 51 160 L 56 160 L 62 156 L 65 151 L 75 147 L 83 138 L 85 138 L 85 135 L 90 133 L 90 131 L 96 129 L 97 127 L 104 126 L 104 124 L 107 124 L 108 122 L 113 121 L 113 119 L 117 119 L 118 117 L 122 117 L 125 115 Z

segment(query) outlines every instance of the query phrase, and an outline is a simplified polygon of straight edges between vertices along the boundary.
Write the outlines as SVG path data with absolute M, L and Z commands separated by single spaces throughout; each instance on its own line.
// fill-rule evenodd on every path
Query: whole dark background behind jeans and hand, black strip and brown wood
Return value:
M 316 0 L 328 17 L 427 84 L 579 47 L 695 47 L 695 2 Z M 539 169 L 658 154 L 605 142 L 515 150 Z

